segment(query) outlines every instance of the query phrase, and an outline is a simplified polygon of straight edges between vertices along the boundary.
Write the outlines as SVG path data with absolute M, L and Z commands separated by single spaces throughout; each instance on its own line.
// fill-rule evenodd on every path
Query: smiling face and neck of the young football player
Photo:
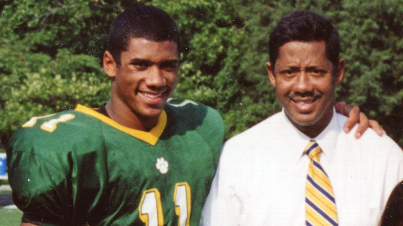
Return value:
M 120 55 L 120 65 L 106 51 L 104 70 L 112 78 L 112 95 L 107 104 L 111 118 L 135 129 L 154 126 L 174 91 L 178 66 L 178 46 L 174 41 L 131 38 Z

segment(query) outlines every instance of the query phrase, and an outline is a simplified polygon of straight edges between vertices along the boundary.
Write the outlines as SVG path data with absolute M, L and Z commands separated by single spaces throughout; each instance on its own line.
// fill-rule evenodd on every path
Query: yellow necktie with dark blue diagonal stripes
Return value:
M 322 149 L 311 140 L 305 148 L 310 159 L 305 188 L 305 224 L 307 226 L 339 225 L 336 201 L 328 175 L 320 166 Z

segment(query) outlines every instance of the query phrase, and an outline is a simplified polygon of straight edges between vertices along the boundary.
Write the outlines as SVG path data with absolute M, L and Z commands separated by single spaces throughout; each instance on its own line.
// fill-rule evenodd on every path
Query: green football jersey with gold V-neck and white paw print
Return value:
M 215 110 L 181 99 L 149 132 L 81 105 L 33 117 L 7 149 L 13 198 L 37 225 L 197 225 L 223 134 Z

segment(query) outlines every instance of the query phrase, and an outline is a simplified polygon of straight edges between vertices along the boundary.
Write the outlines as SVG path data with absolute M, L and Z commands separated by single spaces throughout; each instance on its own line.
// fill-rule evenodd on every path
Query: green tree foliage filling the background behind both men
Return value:
M 332 18 L 347 62 L 337 98 L 361 107 L 403 146 L 403 0 L 0 0 L 2 144 L 32 116 L 108 100 L 105 37 L 118 12 L 135 4 L 163 8 L 177 21 L 174 96 L 218 109 L 226 138 L 280 110 L 265 63 L 281 16 L 309 9 Z

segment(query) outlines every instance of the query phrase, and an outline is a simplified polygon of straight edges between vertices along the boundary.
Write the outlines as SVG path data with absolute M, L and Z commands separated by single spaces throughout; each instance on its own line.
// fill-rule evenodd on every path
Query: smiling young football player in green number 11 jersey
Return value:
M 224 125 L 205 105 L 168 99 L 178 44 L 163 10 L 125 10 L 104 53 L 108 103 L 33 117 L 16 131 L 8 175 L 22 225 L 198 224 Z

